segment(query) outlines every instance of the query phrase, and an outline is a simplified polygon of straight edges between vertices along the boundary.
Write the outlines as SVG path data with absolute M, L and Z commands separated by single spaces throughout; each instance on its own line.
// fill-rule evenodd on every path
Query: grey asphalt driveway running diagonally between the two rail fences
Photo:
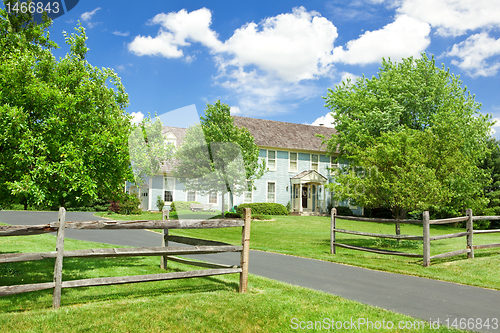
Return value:
M 67 213 L 68 221 L 96 220 L 92 213 Z M 44 224 L 57 220 L 55 212 L 0 211 L 0 222 Z M 66 237 L 117 245 L 161 244 L 161 235 L 145 230 L 66 230 Z M 196 256 L 201 260 L 239 264 L 237 253 Z M 250 251 L 250 273 L 293 285 L 320 290 L 361 303 L 407 314 L 425 321 L 450 323 L 455 318 L 497 318 L 500 332 L 500 291 L 464 286 L 346 266 L 276 253 Z M 369 318 L 368 318 L 369 319 Z

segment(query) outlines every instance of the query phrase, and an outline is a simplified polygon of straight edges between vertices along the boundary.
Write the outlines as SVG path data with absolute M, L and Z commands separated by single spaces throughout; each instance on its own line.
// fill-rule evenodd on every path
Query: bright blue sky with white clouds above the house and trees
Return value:
M 328 88 L 375 75 L 382 57 L 421 52 L 500 118 L 499 0 L 80 0 L 54 20 L 56 56 L 68 51 L 62 31 L 78 20 L 89 62 L 122 78 L 127 111 L 183 108 L 169 125 L 186 125 L 217 99 L 236 115 L 328 123 Z

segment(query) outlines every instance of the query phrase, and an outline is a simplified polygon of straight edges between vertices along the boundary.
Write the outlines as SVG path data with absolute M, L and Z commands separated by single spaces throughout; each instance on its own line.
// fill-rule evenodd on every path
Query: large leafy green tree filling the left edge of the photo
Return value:
M 85 30 L 56 60 L 51 22 L 0 10 L 0 202 L 82 206 L 132 179 L 128 95 L 87 60 Z

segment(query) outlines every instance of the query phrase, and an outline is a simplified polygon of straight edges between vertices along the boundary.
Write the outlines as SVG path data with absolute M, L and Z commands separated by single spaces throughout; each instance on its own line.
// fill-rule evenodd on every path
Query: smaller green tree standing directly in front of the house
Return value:
M 265 162 L 246 128 L 234 124 L 227 104 L 207 104 L 199 125 L 191 126 L 176 151 L 175 176 L 185 179 L 186 189 L 200 193 L 240 195 L 248 182 L 262 177 Z

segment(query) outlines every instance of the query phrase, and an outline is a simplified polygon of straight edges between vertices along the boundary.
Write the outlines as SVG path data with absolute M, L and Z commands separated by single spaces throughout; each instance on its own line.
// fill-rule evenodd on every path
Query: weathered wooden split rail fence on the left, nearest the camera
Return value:
M 245 208 L 244 220 L 165 220 L 163 221 L 80 221 L 66 222 L 66 210 L 59 210 L 59 221 L 45 225 L 9 225 L 0 226 L 0 236 L 38 235 L 57 232 L 56 251 L 44 253 L 4 253 L 0 254 L 0 264 L 55 258 L 54 279 L 52 282 L 34 283 L 14 286 L 0 286 L 0 296 L 24 293 L 29 291 L 54 289 L 53 307 L 61 304 L 61 289 L 75 287 L 92 287 L 124 283 L 163 281 L 205 277 L 222 274 L 240 274 L 239 292 L 245 293 L 248 285 L 248 254 L 250 244 L 250 208 Z M 169 229 L 205 229 L 242 227 L 241 246 L 234 246 L 222 242 L 209 241 L 198 238 L 168 235 Z M 162 246 L 141 248 L 108 248 L 64 251 L 65 229 L 162 229 L 164 232 Z M 192 246 L 171 247 L 168 241 L 188 244 Z M 206 263 L 176 257 L 176 255 L 209 254 L 223 252 L 241 252 L 240 266 L 229 266 L 216 263 Z M 209 269 L 173 272 L 136 276 L 105 277 L 83 280 L 62 281 L 63 258 L 95 258 L 95 257 L 123 257 L 123 256 L 161 256 L 161 267 L 167 268 L 167 260 L 187 265 L 205 267 Z

